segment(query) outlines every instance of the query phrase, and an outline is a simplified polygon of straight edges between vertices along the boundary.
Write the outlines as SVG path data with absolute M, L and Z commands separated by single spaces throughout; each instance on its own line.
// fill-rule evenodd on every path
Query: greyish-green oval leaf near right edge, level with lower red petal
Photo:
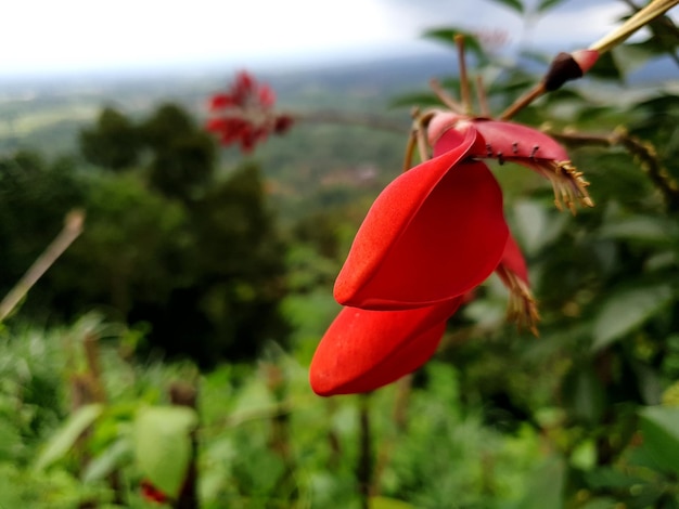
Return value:
M 637 287 L 607 299 L 593 327 L 593 350 L 601 350 L 659 313 L 672 299 L 669 285 Z

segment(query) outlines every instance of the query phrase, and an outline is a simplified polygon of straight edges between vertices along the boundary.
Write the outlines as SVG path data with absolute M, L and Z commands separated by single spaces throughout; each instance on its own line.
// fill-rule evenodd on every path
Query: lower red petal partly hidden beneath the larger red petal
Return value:
M 414 371 L 436 352 L 460 300 L 407 311 L 344 308 L 316 350 L 311 389 L 322 396 L 370 392 Z

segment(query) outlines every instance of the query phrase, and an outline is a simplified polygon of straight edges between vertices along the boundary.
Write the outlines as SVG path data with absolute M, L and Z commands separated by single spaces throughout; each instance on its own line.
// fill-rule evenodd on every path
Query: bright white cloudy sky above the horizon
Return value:
M 535 0 L 524 0 L 530 4 Z M 0 76 L 332 64 L 440 48 L 458 26 L 571 50 L 608 31 L 619 0 L 565 0 L 525 29 L 489 0 L 15 0 L 3 2 Z

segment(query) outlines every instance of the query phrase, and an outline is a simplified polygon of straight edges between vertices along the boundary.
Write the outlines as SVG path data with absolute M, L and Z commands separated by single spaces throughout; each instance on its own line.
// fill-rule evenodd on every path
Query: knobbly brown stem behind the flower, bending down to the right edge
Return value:
M 624 128 L 617 128 L 610 135 L 578 134 L 572 132 L 547 133 L 560 142 L 571 145 L 623 146 L 641 162 L 641 169 L 659 190 L 670 211 L 679 210 L 679 183 L 674 180 L 657 158 L 657 152 L 650 142 L 630 136 Z

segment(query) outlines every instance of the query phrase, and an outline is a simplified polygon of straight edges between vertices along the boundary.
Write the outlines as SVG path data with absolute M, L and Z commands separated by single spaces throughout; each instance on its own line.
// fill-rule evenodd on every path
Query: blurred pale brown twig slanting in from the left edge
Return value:
M 60 234 L 54 238 L 44 252 L 38 257 L 33 265 L 26 271 L 26 274 L 14 285 L 9 293 L 0 302 L 0 322 L 2 322 L 18 304 L 18 302 L 28 293 L 28 290 L 42 277 L 50 266 L 54 264 L 56 259 L 78 238 L 82 232 L 82 223 L 85 222 L 85 213 L 80 210 L 74 210 L 66 216 L 65 224 Z

